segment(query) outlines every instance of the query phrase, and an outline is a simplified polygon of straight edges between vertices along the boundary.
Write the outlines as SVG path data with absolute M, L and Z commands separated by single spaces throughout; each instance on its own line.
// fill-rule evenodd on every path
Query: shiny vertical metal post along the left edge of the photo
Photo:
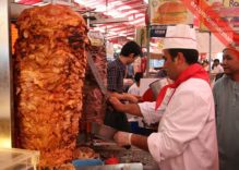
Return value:
M 10 41 L 10 1 L 0 0 L 0 147 L 13 142 L 13 102 Z

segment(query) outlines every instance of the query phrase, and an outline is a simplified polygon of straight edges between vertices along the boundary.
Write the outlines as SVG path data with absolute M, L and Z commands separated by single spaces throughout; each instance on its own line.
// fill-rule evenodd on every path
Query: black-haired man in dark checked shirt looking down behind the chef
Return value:
M 121 49 L 119 58 L 107 65 L 107 89 L 110 96 L 119 100 L 138 102 L 139 96 L 123 93 L 123 77 L 126 76 L 126 66 L 133 63 L 134 60 L 142 56 L 141 47 L 135 41 L 128 41 Z M 121 131 L 130 131 L 127 116 L 117 112 L 110 107 L 106 109 L 104 123 Z

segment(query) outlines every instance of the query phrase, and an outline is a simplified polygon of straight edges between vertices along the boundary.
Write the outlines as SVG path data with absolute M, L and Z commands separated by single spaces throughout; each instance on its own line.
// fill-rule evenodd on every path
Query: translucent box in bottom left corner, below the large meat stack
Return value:
M 0 148 L 0 170 L 36 170 L 38 162 L 39 151 Z

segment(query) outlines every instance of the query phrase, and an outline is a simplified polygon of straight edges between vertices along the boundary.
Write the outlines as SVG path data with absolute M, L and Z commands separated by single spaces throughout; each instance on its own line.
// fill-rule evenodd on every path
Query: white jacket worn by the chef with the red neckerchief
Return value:
M 178 86 L 167 104 L 169 94 L 156 111 L 155 102 L 139 104 L 145 120 L 160 119 L 158 132 L 147 138 L 150 153 L 160 170 L 218 170 L 210 85 L 203 80 L 190 78 Z

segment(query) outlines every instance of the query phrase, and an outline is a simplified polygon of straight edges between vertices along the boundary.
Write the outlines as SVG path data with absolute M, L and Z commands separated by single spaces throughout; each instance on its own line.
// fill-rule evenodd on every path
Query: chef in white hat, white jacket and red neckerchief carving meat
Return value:
M 214 100 L 208 74 L 198 64 L 195 31 L 168 26 L 163 52 L 164 69 L 175 83 L 162 88 L 156 101 L 109 99 L 117 110 L 141 116 L 148 124 L 160 120 L 158 131 L 148 137 L 117 132 L 115 141 L 150 150 L 160 170 L 217 170 Z

